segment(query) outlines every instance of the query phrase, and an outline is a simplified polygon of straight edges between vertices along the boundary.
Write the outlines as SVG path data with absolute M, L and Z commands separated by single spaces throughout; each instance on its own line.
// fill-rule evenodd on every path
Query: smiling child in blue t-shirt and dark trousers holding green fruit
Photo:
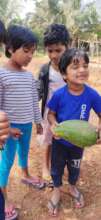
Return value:
M 78 49 L 69 49 L 61 57 L 59 69 L 63 79 L 67 81 L 67 85 L 58 89 L 48 103 L 48 120 L 51 130 L 57 123 L 70 119 L 88 121 L 91 109 L 98 115 L 99 129 L 101 129 L 101 96 L 85 84 L 89 77 L 88 64 L 88 55 Z M 101 143 L 101 139 L 99 142 Z M 75 207 L 84 206 L 83 195 L 76 188 L 82 156 L 82 148 L 63 139 L 53 138 L 51 175 L 55 187 L 48 203 L 49 212 L 53 216 L 56 216 L 58 212 L 60 186 L 65 165 L 68 169 L 69 193 L 74 198 Z

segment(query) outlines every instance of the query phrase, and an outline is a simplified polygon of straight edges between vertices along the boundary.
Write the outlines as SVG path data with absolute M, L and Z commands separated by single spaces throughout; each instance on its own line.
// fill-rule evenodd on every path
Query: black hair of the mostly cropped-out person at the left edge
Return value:
M 3 22 L 0 20 L 0 43 L 5 43 L 6 41 L 6 29 Z

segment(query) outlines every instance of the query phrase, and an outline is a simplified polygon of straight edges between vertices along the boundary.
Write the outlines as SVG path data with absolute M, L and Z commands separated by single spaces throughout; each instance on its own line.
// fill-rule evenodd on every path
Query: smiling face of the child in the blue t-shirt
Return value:
M 89 77 L 88 64 L 84 58 L 80 58 L 78 62 L 72 62 L 66 69 L 65 79 L 67 82 L 75 85 L 83 85 Z

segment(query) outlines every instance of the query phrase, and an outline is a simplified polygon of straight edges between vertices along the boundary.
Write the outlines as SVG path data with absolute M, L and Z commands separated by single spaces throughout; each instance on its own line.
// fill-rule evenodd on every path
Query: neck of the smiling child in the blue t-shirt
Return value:
M 73 95 L 80 95 L 84 91 L 84 85 L 71 85 L 68 83 L 69 92 Z

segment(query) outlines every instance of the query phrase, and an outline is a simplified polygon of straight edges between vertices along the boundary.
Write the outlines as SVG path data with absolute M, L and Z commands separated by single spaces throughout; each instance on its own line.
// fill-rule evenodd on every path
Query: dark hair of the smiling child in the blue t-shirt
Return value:
M 80 58 L 83 58 L 84 61 L 88 64 L 89 57 L 88 54 L 84 50 L 80 50 L 77 48 L 71 48 L 66 50 L 59 62 L 59 70 L 62 75 L 66 74 L 67 67 L 73 62 L 77 64 L 80 62 Z

